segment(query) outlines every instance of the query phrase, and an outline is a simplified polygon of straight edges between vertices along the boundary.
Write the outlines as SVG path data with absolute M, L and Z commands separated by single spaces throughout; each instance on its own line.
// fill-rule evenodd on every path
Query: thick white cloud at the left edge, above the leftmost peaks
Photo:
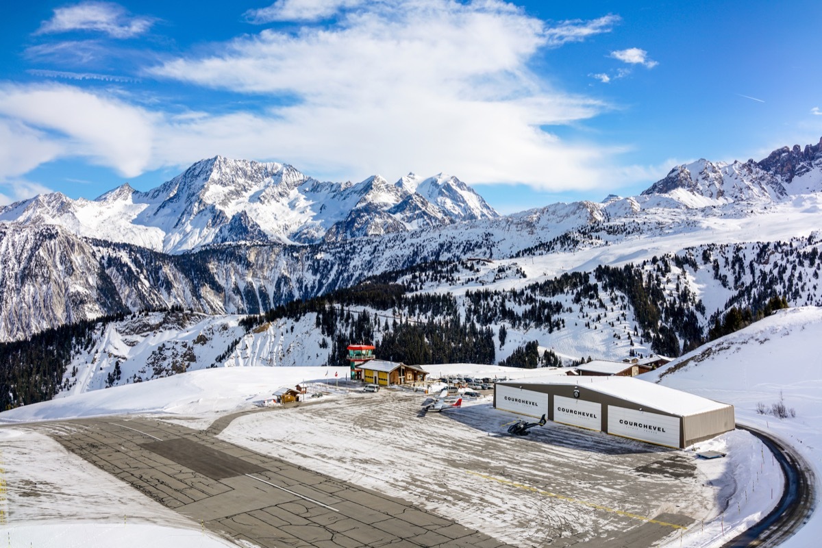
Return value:
M 58 155 L 83 156 L 126 177 L 150 165 L 154 127 L 161 120 L 121 100 L 69 85 L 2 85 L 0 115 L 36 142 L 39 162 Z M 13 134 L 0 133 L 0 142 L 18 146 Z

